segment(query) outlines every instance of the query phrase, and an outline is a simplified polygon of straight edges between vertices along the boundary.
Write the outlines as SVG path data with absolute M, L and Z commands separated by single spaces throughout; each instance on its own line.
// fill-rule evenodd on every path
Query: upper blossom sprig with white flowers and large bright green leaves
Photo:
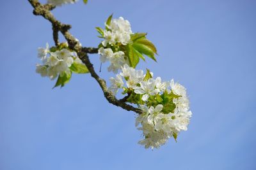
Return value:
M 104 50 L 111 50 L 113 53 L 120 53 L 119 58 L 122 58 L 122 65 L 129 64 L 131 67 L 136 67 L 140 62 L 140 59 L 145 60 L 145 56 L 150 57 L 156 61 L 155 55 L 157 54 L 156 46 L 146 38 L 147 33 L 133 33 L 131 31 L 131 25 L 128 20 L 120 17 L 118 19 L 112 19 L 113 15 L 110 15 L 105 22 L 105 29 L 96 27 L 99 32 L 99 38 L 103 38 L 99 44 L 99 53 L 103 58 L 102 62 L 108 60 L 111 62 L 109 71 L 116 73 L 120 66 L 111 60 L 109 53 L 104 53 Z M 120 65 L 120 64 L 119 64 Z

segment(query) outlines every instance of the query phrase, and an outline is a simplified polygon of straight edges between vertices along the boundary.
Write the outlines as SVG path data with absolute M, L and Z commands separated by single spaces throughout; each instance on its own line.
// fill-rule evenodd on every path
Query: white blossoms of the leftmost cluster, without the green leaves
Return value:
M 76 57 L 75 52 L 70 52 L 66 48 L 51 52 L 49 50 L 48 43 L 46 48 L 38 48 L 38 58 L 42 60 L 42 64 L 36 64 L 36 73 L 41 74 L 42 77 L 48 76 L 51 80 L 54 80 L 58 74 L 70 74 L 69 67 L 73 62 L 81 62 Z

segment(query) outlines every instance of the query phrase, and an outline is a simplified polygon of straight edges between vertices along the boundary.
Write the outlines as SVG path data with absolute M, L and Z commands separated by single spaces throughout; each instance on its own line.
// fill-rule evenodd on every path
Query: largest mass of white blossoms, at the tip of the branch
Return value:
M 145 148 L 159 148 L 168 141 L 168 138 L 177 138 L 180 131 L 187 131 L 192 113 L 189 111 L 186 89 L 182 85 L 174 83 L 173 80 L 162 82 L 160 77 L 149 78 L 145 81 L 145 74 L 142 70 L 135 70 L 125 64 L 122 67 L 122 73 L 116 75 L 116 78 L 110 78 L 109 90 L 114 94 L 118 89 L 124 88 L 122 77 L 126 80 L 127 89 L 142 95 L 143 104 L 140 104 L 140 108 L 143 113 L 136 118 L 136 127 L 141 125 L 138 129 L 143 131 L 143 136 L 145 136 L 145 139 L 139 141 L 141 145 Z M 172 112 L 166 108 L 170 107 L 168 104 L 150 106 L 152 104 L 148 101 L 150 97 L 154 99 L 154 96 L 163 96 L 164 93 L 176 96 L 172 99 L 172 103 L 175 104 Z

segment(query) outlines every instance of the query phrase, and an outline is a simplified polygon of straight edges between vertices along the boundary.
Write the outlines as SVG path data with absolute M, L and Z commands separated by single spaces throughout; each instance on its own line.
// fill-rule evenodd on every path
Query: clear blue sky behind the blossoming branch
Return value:
M 88 74 L 52 90 L 35 73 L 51 25 L 27 1 L 0 9 L 1 170 L 256 169 L 256 1 L 89 0 L 54 10 L 84 46 L 98 45 L 94 27 L 111 13 L 148 32 L 159 56 L 139 67 L 185 85 L 193 111 L 178 142 L 154 151 L 137 144 L 136 115 L 109 104 Z M 99 56 L 90 59 L 99 70 Z

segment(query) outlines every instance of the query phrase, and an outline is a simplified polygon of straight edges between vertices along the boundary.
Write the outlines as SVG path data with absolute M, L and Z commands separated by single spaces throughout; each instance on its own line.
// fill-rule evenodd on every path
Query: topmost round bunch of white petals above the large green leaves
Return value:
M 104 41 L 102 41 L 103 46 L 115 45 L 116 43 L 121 43 L 122 45 L 127 45 L 131 39 L 131 25 L 128 20 L 124 20 L 123 17 L 111 20 L 109 25 L 105 24 L 108 30 L 104 30 Z

